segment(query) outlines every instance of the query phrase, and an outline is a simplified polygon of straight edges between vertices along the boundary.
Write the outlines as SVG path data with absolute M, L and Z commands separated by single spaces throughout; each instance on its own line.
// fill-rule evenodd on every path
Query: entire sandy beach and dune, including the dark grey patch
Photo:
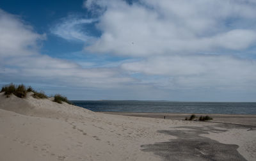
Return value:
M 184 121 L 189 114 L 101 113 L 51 99 L 0 93 L 0 160 L 256 160 L 253 115 Z

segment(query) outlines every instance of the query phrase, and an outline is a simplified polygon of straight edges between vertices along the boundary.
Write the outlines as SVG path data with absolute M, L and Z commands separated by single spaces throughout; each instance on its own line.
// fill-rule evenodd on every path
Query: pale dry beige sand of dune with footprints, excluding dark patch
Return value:
M 177 138 L 157 130 L 214 125 L 101 114 L 51 98 L 6 98 L 0 93 L 0 160 L 163 160 L 141 147 Z M 220 133 L 219 140 L 236 142 L 244 158 L 255 160 L 255 130 L 231 130 Z M 218 140 L 218 134 L 205 137 Z

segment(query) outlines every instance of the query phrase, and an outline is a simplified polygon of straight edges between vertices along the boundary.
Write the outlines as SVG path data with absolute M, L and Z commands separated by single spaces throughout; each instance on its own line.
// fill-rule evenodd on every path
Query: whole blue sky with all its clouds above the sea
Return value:
M 0 86 L 70 100 L 256 101 L 255 0 L 0 1 Z

